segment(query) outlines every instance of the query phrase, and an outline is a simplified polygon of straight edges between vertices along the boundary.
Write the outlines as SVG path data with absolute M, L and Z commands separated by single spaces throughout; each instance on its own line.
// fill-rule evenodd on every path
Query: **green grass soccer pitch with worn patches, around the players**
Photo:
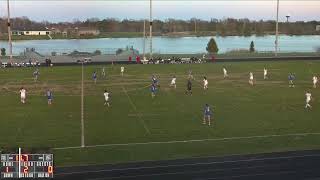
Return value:
M 223 79 L 222 66 L 229 79 Z M 264 66 L 269 80 L 263 80 Z M 0 147 L 50 148 L 58 166 L 320 148 L 320 90 L 312 88 L 320 62 L 125 65 L 124 77 L 120 65 L 108 65 L 107 79 L 94 84 L 91 75 L 95 70 L 100 75 L 101 68 L 85 67 L 87 148 L 78 148 L 80 66 L 40 68 L 37 83 L 34 68 L 0 69 Z M 189 69 L 196 78 L 192 96 L 184 94 Z M 249 71 L 255 74 L 254 87 L 248 84 Z M 295 88 L 288 87 L 289 72 L 296 73 Z M 152 74 L 161 85 L 154 99 L 148 87 Z M 173 74 L 176 90 L 169 87 Z M 21 86 L 28 91 L 27 104 L 20 103 Z M 53 89 L 52 106 L 47 105 L 47 88 Z M 103 105 L 105 89 L 112 93 L 110 108 Z M 312 111 L 304 109 L 308 89 Z M 214 109 L 212 127 L 202 124 L 206 103 Z

